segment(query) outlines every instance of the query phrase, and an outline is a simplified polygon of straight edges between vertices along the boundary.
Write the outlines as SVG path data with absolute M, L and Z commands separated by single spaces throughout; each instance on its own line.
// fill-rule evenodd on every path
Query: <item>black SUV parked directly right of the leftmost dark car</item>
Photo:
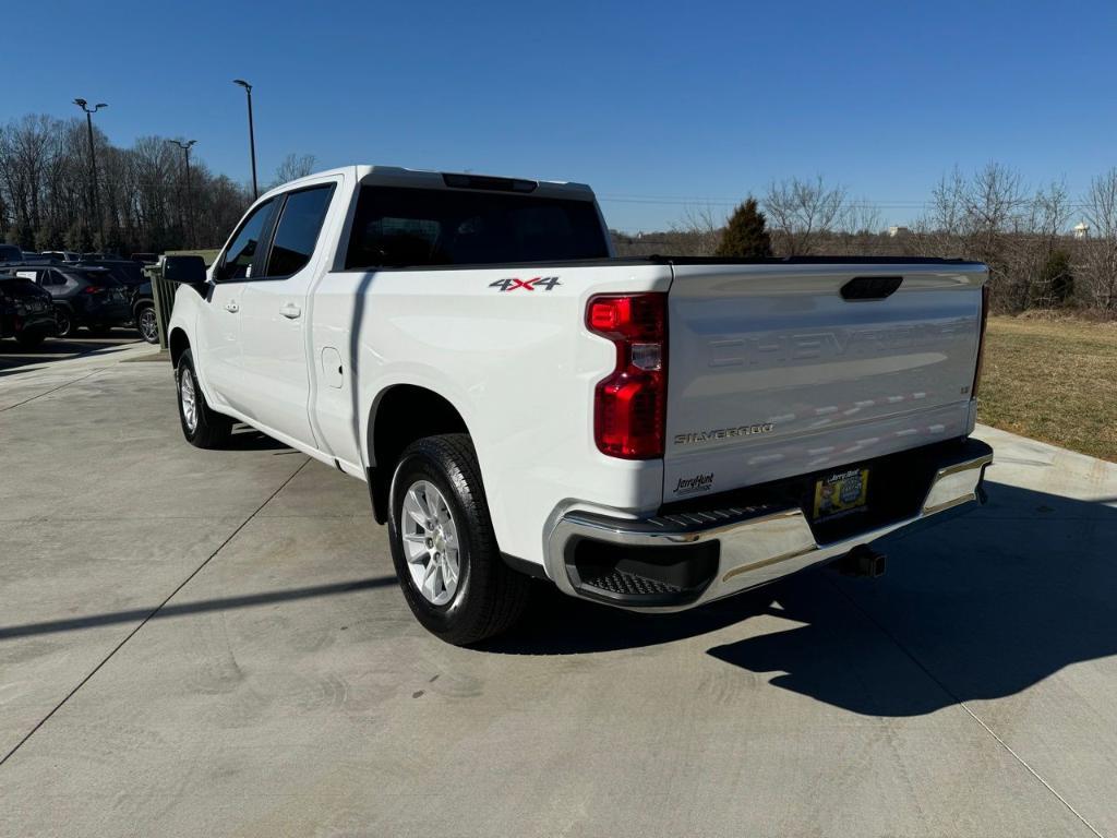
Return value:
M 13 273 L 49 292 L 59 337 L 73 335 L 82 326 L 98 333 L 132 323 L 125 287 L 104 268 L 52 263 L 22 265 Z

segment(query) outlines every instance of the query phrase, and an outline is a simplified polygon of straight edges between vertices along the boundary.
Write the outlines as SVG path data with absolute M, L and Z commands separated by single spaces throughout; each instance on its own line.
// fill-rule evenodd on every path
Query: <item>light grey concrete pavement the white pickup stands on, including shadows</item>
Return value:
M 1117 835 L 1117 466 L 982 429 L 881 580 L 464 650 L 361 483 L 54 366 L 0 379 L 0 835 Z

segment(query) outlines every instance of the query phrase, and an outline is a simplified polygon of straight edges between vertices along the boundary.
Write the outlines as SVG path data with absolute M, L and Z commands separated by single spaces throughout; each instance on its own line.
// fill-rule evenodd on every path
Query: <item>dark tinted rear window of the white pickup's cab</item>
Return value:
M 364 185 L 345 268 L 603 259 L 593 201 L 509 192 Z

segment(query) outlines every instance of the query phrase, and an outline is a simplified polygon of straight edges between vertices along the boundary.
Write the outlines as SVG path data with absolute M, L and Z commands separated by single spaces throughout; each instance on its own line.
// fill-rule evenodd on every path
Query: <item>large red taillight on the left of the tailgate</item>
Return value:
M 590 299 L 585 325 L 617 346 L 617 366 L 594 392 L 593 437 L 610 457 L 663 456 L 667 413 L 667 295 Z

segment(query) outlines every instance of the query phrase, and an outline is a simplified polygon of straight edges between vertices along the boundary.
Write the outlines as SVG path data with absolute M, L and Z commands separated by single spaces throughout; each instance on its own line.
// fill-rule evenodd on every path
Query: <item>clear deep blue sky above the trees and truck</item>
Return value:
M 255 85 L 261 181 L 288 152 L 579 180 L 630 231 L 796 174 L 896 223 L 955 164 L 1075 194 L 1117 164 L 1111 0 L 16 0 L 3 18 L 0 122 L 103 101 L 114 143 L 197 139 L 242 181 L 236 77 Z

